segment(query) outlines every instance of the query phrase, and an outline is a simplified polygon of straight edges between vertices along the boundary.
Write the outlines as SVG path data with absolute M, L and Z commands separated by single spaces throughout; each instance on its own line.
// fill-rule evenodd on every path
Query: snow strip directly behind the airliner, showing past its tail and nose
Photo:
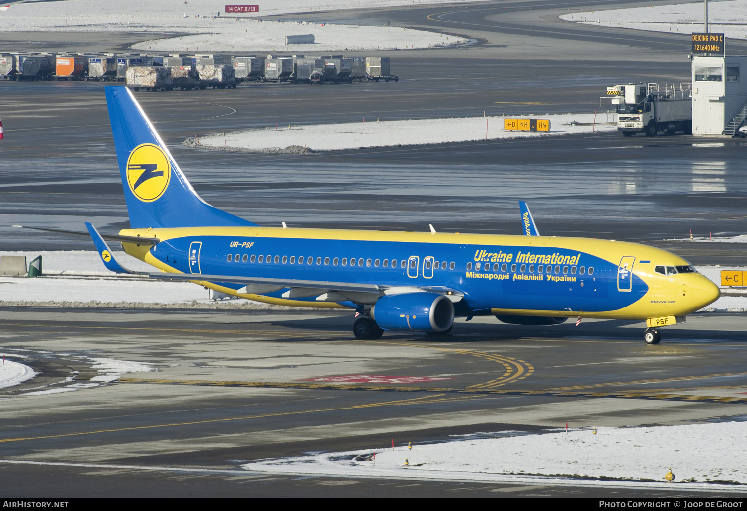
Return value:
M 93 250 L 58 252 L 0 252 L 0 255 L 25 255 L 27 261 L 42 255 L 45 276 L 36 279 L 0 276 L 0 305 L 49 306 L 107 306 L 107 307 L 217 307 L 230 309 L 279 309 L 252 300 L 208 299 L 208 291 L 190 282 L 158 282 L 130 276 L 118 276 L 107 270 Z M 123 252 L 117 260 L 133 270 L 153 270 L 153 267 Z M 698 266 L 716 285 L 721 281 L 721 270 L 741 270 L 741 267 Z M 743 297 L 720 297 L 707 306 L 707 312 L 747 312 L 747 288 L 722 288 Z

